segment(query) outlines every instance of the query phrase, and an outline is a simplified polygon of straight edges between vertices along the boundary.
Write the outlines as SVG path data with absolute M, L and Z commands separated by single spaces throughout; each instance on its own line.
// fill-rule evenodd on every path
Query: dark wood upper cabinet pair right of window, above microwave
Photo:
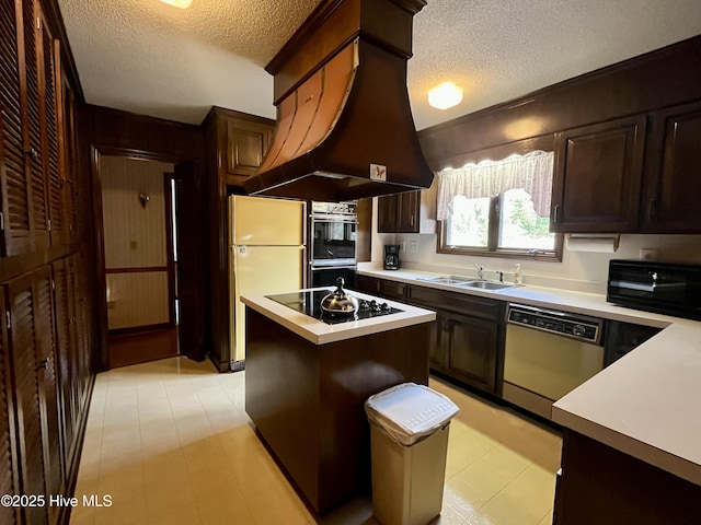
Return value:
M 562 131 L 551 230 L 700 233 L 699 180 L 701 102 Z

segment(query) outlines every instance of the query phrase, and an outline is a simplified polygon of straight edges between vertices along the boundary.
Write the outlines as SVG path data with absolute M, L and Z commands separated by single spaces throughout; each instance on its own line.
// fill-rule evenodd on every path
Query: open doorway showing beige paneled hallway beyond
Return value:
M 187 247 L 179 249 L 197 248 L 193 238 L 200 235 L 179 228 L 199 213 L 193 164 L 119 153 L 97 153 L 95 160 L 105 288 L 102 368 L 179 354 L 204 359 L 200 320 L 187 318 L 183 326 L 181 315 L 202 311 L 200 250 L 193 256 Z M 181 253 L 193 260 L 181 261 Z M 183 268 L 189 276 L 183 277 Z

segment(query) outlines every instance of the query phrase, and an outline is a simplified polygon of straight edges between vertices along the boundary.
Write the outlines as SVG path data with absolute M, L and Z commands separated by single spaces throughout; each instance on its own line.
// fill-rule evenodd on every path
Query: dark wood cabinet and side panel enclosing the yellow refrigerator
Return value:
M 203 122 L 205 135 L 205 199 L 209 244 L 208 347 L 214 364 L 231 370 L 229 349 L 229 219 L 227 196 L 243 194 L 271 145 L 275 121 L 212 107 Z

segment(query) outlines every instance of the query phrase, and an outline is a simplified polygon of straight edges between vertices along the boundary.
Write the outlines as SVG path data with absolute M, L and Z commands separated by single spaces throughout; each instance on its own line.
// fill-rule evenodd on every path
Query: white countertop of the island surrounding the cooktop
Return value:
M 315 290 L 334 290 L 335 287 L 323 287 Z M 436 319 L 436 313 L 430 310 L 418 308 L 404 303 L 389 301 L 387 299 L 375 298 L 366 293 L 350 291 L 358 299 L 372 300 L 387 303 L 389 306 L 402 312 L 391 315 L 381 315 L 369 319 L 350 320 L 335 325 L 327 325 L 322 320 L 310 317 L 301 312 L 297 312 L 289 306 L 277 303 L 264 295 L 242 296 L 241 301 L 246 306 L 265 315 L 266 317 L 283 325 L 288 330 L 303 337 L 314 345 L 325 345 L 329 342 L 343 341 L 355 337 L 368 336 L 380 331 L 395 330 L 421 323 L 430 323 Z

